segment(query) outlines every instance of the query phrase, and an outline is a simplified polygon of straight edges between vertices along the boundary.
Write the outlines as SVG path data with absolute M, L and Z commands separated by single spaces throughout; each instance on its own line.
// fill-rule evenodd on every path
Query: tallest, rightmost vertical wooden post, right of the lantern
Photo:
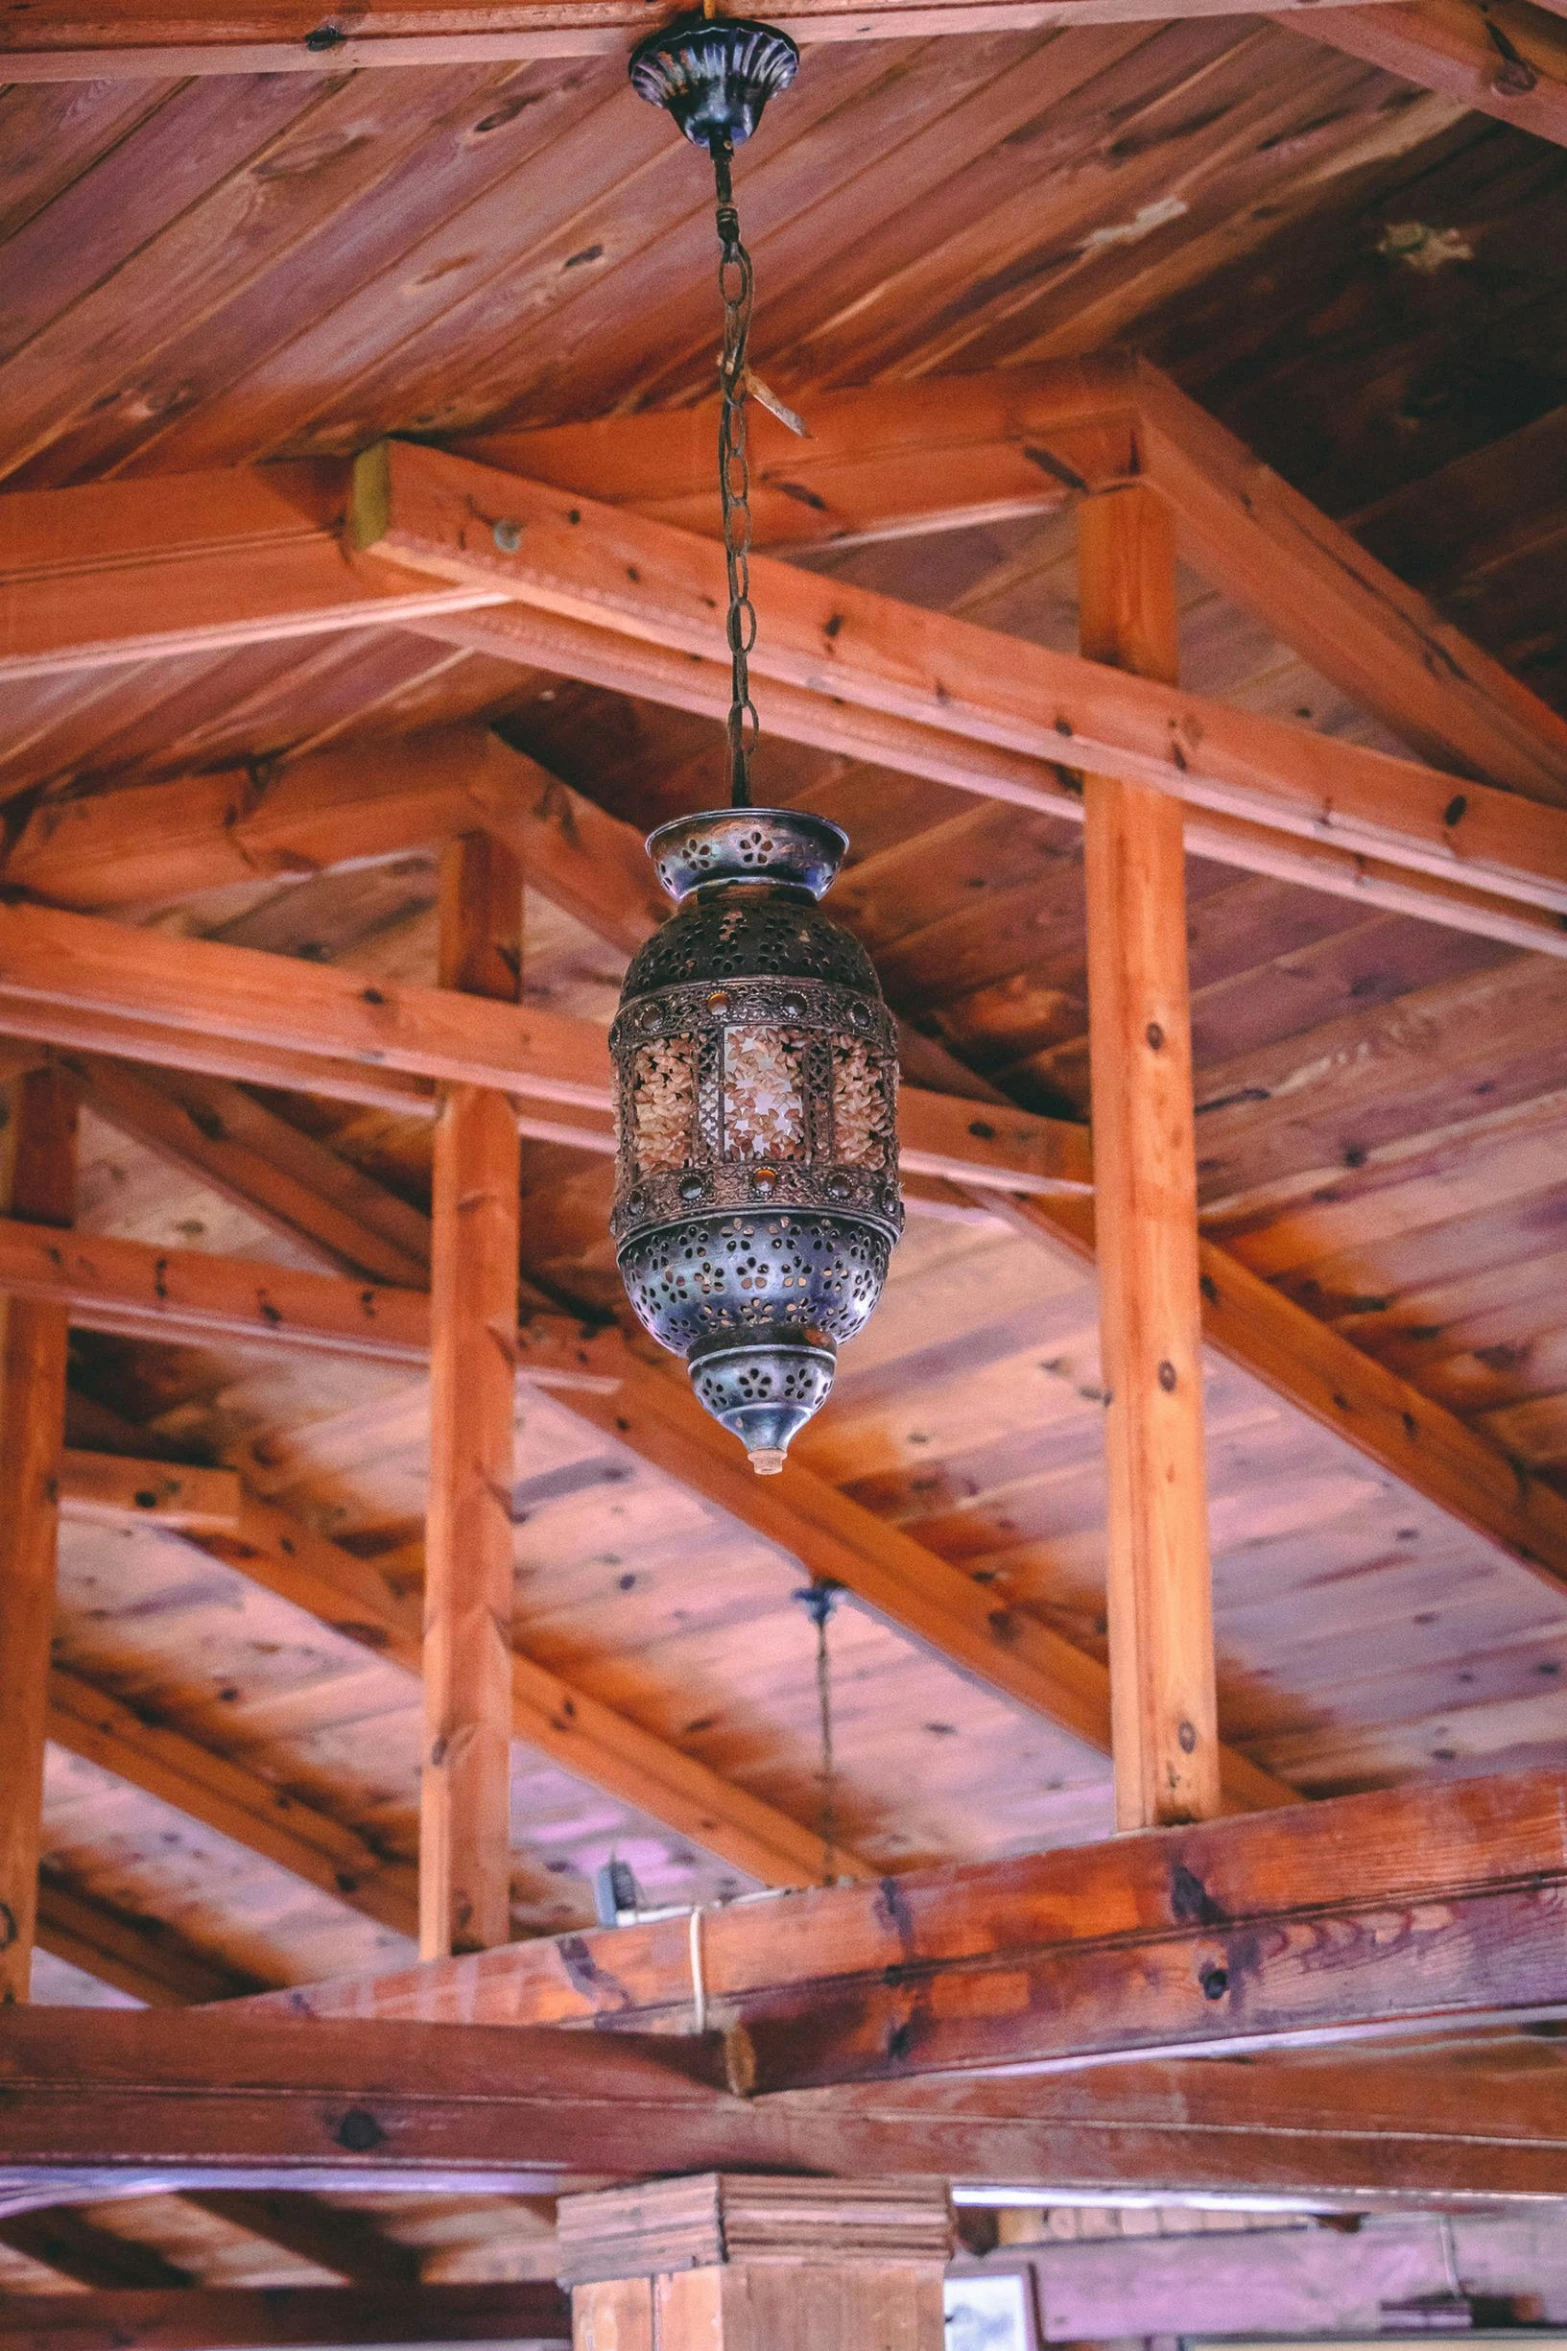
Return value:
M 1175 682 L 1175 522 L 1132 487 L 1078 508 L 1090 661 Z M 1182 806 L 1083 783 L 1095 1230 L 1109 1467 L 1116 1827 L 1219 1810 Z

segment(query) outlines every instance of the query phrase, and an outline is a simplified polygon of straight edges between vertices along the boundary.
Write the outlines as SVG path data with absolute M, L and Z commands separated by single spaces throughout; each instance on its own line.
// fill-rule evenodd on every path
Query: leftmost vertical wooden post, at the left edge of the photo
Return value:
M 12 1091 L 12 1213 L 75 1213 L 75 1096 L 56 1070 Z M 0 1302 L 0 2003 L 26 2001 L 38 1923 L 54 1545 L 66 1444 L 66 1310 Z

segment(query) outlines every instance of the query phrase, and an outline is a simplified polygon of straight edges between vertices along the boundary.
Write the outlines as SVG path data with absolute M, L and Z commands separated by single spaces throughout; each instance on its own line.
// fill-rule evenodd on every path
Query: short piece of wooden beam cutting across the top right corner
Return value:
M 1381 24 L 1381 19 L 1388 19 Z M 1327 7 L 1278 16 L 1332 49 L 1398 73 L 1417 89 L 1567 146 L 1567 26 L 1560 9 L 1529 0 L 1403 0 L 1393 7 Z

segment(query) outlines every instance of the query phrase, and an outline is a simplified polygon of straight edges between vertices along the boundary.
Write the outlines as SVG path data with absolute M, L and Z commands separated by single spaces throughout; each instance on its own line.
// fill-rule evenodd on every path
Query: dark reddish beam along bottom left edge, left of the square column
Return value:
M 202 2210 L 254 2198 L 190 2196 Z M 343 2217 L 343 2215 L 336 2215 Z M 40 2215 L 40 2222 L 56 2215 Z M 28 2217 L 31 2224 L 31 2217 Z M 0 2226 L 12 2226 L 5 2222 Z M 9 2351 L 270 2351 L 298 2344 L 505 2342 L 566 2351 L 571 2309 L 557 2285 L 186 2285 L 89 2295 L 7 2295 Z

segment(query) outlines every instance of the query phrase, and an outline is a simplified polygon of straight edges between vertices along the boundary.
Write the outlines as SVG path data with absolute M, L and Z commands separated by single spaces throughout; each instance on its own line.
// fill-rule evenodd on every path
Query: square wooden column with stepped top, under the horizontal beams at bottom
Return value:
M 705 2172 L 566 2196 L 576 2351 L 942 2351 L 940 2179 Z

